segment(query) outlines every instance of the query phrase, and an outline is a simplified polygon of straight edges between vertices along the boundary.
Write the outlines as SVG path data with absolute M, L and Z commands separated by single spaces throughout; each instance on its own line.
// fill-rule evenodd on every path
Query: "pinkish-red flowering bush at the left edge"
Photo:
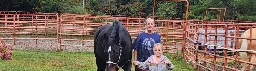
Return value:
M 0 39 L 0 57 L 2 60 L 12 60 L 12 47 L 4 44 L 4 41 Z

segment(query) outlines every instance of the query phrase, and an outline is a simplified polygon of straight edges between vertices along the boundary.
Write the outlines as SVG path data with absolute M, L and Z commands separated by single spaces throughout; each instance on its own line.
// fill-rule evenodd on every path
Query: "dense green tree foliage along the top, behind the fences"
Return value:
M 256 22 L 256 0 L 188 0 L 188 19 L 204 19 L 207 8 L 226 8 L 225 19 Z M 155 16 L 184 18 L 186 3 L 156 1 Z M 38 11 L 98 15 L 151 16 L 153 0 L 0 0 L 0 11 Z M 209 10 L 207 20 L 218 10 Z M 224 10 L 221 10 L 223 16 Z

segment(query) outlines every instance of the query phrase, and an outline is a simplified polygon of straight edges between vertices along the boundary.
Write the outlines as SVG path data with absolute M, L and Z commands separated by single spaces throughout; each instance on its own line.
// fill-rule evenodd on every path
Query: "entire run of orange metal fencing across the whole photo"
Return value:
M 56 46 L 57 49 L 64 49 L 66 46 L 67 50 L 69 47 L 93 47 L 93 36 L 96 29 L 112 23 L 115 19 L 120 20 L 131 38 L 134 39 L 145 30 L 146 20 L 145 18 L 81 14 L 62 14 L 59 17 L 53 13 L 16 13 L 0 14 L 0 35 L 7 35 L 7 37 L 1 38 L 8 40 L 7 45 Z M 240 51 L 230 50 L 239 49 L 239 39 L 256 40 L 256 38 L 240 37 L 243 33 L 242 30 L 256 28 L 256 23 L 234 24 L 234 22 L 189 20 L 185 26 L 185 22 L 182 20 L 155 20 L 154 31 L 160 34 L 166 53 L 184 54 L 184 59 L 191 60 L 195 69 L 199 71 L 239 71 L 241 70 L 239 63 L 256 65 L 250 60 L 239 59 Z M 185 40 L 183 41 L 184 34 Z M 26 40 L 32 40 L 32 42 Z M 198 41 L 200 44 L 195 43 Z M 249 46 L 251 47 L 251 45 Z M 249 59 L 255 53 L 248 52 Z M 219 54 L 223 54 L 223 56 Z M 234 63 L 234 65 L 228 63 Z

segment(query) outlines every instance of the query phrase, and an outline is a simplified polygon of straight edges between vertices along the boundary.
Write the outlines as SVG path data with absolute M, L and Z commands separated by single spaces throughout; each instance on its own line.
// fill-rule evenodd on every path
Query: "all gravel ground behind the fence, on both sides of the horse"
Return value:
M 35 38 L 35 35 L 17 35 L 16 38 Z M 38 37 L 45 37 L 38 35 Z M 49 35 L 47 38 L 54 38 L 55 35 Z M 79 39 L 81 37 L 76 37 L 76 36 L 63 36 L 66 38 L 74 38 L 74 39 Z M 1 38 L 13 38 L 12 35 L 2 35 Z M 93 38 L 89 38 L 90 40 Z M 4 40 L 5 44 L 13 44 L 13 40 Z M 42 40 L 38 39 L 38 44 L 57 44 L 57 40 Z M 23 39 L 18 39 L 15 41 L 15 44 L 35 44 L 35 40 L 23 40 Z M 61 41 L 61 44 L 70 44 L 70 45 L 82 45 L 82 41 Z M 165 44 L 165 43 L 163 43 Z M 90 51 L 93 52 L 93 47 L 87 47 L 87 46 L 93 46 L 93 41 L 84 41 L 85 46 L 61 46 L 62 51 L 67 51 L 67 52 L 86 52 Z M 22 50 L 33 50 L 33 51 L 57 51 L 57 49 L 60 48 L 60 46 L 56 45 L 10 45 L 13 47 L 13 49 L 22 49 Z M 164 45 L 165 46 L 165 45 Z M 169 45 L 171 47 L 181 47 L 180 44 L 177 45 Z M 50 49 L 51 48 L 51 49 Z M 181 49 L 171 49 L 168 50 L 167 52 L 174 52 L 174 53 L 180 53 Z

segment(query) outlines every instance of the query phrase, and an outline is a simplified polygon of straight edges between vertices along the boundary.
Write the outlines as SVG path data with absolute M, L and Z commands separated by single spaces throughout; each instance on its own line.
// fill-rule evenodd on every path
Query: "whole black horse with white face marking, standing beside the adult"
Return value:
M 131 36 L 119 20 L 96 30 L 94 55 L 98 71 L 118 71 L 119 67 L 131 71 L 131 52 Z

